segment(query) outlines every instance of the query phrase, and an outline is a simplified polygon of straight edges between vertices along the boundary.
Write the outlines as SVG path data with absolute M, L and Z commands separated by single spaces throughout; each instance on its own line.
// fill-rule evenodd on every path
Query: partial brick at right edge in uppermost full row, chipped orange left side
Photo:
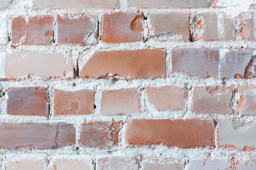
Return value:
M 240 32 L 238 33 L 238 35 L 242 40 L 256 40 L 255 20 L 256 13 L 241 13 L 239 15 Z

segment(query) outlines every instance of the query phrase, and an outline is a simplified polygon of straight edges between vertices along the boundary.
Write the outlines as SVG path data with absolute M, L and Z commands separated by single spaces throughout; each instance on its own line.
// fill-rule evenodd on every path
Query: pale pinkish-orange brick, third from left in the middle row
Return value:
M 139 113 L 137 88 L 103 91 L 100 111 L 102 115 L 129 115 Z

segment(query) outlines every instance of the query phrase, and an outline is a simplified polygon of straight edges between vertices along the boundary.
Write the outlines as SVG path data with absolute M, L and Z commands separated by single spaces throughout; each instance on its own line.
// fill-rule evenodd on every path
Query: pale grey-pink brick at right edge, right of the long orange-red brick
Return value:
M 218 145 L 238 148 L 256 148 L 255 121 L 218 121 Z

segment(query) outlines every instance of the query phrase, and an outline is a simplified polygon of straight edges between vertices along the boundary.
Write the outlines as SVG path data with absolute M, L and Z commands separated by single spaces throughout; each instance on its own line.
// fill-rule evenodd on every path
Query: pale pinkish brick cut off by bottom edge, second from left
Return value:
M 90 159 L 52 159 L 52 170 L 92 170 Z

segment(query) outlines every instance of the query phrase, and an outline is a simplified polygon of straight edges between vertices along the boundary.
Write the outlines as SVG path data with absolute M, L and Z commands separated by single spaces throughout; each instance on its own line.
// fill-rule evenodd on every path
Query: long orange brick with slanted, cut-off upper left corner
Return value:
M 123 78 L 152 78 L 166 75 L 165 52 L 162 50 L 95 51 L 80 77 L 101 77 L 108 73 Z

